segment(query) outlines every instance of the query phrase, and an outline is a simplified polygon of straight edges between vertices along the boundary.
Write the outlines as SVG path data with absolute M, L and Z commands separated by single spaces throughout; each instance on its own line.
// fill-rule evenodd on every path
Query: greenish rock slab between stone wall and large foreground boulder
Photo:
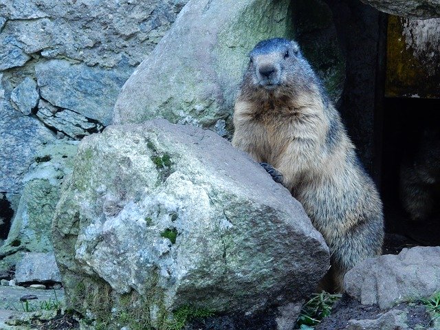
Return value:
M 72 172 L 78 142 L 41 146 L 25 175 L 23 193 L 8 233 L 0 247 L 0 269 L 21 259 L 23 251 L 50 252 L 50 228 L 63 177 Z

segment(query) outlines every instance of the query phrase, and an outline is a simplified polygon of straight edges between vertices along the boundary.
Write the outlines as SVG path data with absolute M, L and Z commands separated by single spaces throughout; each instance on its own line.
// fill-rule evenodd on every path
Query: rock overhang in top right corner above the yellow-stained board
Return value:
M 440 17 L 439 0 L 361 0 L 382 12 L 410 19 Z

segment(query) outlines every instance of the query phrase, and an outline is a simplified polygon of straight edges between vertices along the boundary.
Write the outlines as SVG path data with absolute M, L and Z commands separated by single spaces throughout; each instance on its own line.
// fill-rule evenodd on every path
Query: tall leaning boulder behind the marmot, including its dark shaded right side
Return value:
M 331 98 L 338 100 L 344 58 L 323 1 L 191 0 L 122 87 L 113 123 L 166 118 L 230 137 L 248 53 L 263 39 L 294 35 Z

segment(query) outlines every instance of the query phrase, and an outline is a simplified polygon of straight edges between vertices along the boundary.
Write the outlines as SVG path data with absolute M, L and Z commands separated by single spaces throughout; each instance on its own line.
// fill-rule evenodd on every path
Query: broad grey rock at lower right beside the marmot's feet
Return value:
M 440 247 L 415 247 L 356 265 L 344 277 L 347 294 L 364 305 L 385 309 L 439 289 Z

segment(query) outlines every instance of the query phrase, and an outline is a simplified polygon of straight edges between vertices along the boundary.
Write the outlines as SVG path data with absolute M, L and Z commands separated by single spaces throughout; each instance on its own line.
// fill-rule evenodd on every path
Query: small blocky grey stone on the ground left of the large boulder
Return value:
M 26 253 L 17 263 L 15 278 L 17 283 L 61 282 L 61 275 L 53 253 Z

